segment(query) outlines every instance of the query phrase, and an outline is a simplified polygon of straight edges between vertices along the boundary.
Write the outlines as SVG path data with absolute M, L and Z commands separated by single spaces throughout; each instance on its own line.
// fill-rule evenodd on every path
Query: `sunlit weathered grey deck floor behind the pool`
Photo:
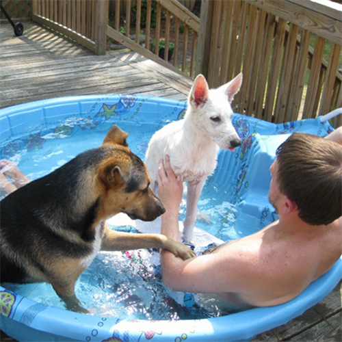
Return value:
M 151 73 L 135 67 L 146 58 L 131 51 L 96 56 L 32 23 L 25 24 L 21 37 L 14 36 L 10 25 L 1 25 L 0 35 L 0 107 L 81 94 L 146 94 L 184 101 L 192 86 L 190 79 L 175 81 L 176 74 L 157 77 L 166 68 Z

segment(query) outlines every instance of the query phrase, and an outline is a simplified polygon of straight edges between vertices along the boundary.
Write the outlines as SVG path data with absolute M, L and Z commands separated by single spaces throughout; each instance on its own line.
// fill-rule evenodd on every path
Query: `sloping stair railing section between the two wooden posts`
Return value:
M 196 47 L 200 29 L 200 20 L 197 16 L 176 0 L 114 2 L 114 23 L 107 27 L 107 35 L 110 38 L 150 60 L 168 66 L 176 73 L 181 71 L 183 76 L 195 76 Z M 120 16 L 122 6 L 125 10 L 124 17 Z M 144 47 L 141 43 L 142 37 Z M 161 44 L 163 48 L 159 49 Z M 170 51 L 172 57 L 169 55 Z

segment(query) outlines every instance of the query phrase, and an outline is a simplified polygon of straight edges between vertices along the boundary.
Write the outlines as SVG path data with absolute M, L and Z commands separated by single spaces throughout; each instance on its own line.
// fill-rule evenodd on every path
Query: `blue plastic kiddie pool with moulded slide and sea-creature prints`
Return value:
M 154 131 L 182 118 L 186 107 L 183 101 L 134 95 L 75 96 L 8 107 L 0 110 L 0 157 L 15 161 L 35 179 L 82 150 L 97 147 L 109 127 L 118 124 L 130 133 L 131 150 L 144 159 Z M 267 194 L 269 166 L 279 144 L 295 131 L 325 136 L 333 130 L 322 118 L 272 124 L 234 114 L 232 120 L 242 144 L 235 153 L 220 151 L 218 168 L 207 180 L 200 200 L 203 207 L 207 199 L 229 203 L 220 212 L 220 222 L 208 227 L 210 234 L 224 241 L 254 233 L 276 219 Z M 98 138 L 93 140 L 95 136 Z M 233 223 L 222 229 L 222 222 Z M 286 304 L 179 320 L 73 313 L 0 287 L 1 330 L 18 341 L 244 341 L 301 315 L 326 297 L 341 278 L 339 259 L 329 272 Z

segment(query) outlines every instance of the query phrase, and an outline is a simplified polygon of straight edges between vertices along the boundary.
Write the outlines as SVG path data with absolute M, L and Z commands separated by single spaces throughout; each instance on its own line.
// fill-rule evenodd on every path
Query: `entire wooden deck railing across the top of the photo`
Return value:
M 202 0 L 199 19 L 176 0 L 112 1 L 110 25 L 108 0 L 34 0 L 32 16 L 98 54 L 109 37 L 180 75 L 202 73 L 211 88 L 242 72 L 233 108 L 263 120 L 316 118 L 342 107 L 341 4 Z M 341 116 L 332 124 L 341 126 Z

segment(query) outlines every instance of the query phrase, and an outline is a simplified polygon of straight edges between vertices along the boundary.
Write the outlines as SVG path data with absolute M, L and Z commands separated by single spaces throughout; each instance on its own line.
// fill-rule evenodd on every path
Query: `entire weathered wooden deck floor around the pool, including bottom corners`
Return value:
M 25 23 L 23 36 L 0 26 L 0 108 L 79 94 L 150 94 L 185 100 L 192 81 L 131 51 L 96 56 L 48 29 Z M 341 282 L 300 317 L 253 342 L 341 342 Z M 3 334 L 0 341 L 12 341 Z M 213 341 L 215 342 L 215 341 Z

